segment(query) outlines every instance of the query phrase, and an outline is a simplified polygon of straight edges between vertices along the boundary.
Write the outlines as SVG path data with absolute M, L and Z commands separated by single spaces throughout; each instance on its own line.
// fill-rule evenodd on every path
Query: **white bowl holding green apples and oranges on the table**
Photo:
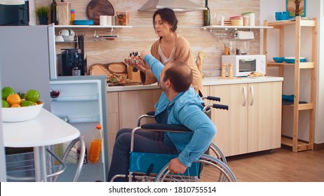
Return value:
M 32 120 L 39 115 L 43 103 L 36 106 L 25 106 L 20 108 L 2 108 L 2 121 L 3 122 L 21 122 Z

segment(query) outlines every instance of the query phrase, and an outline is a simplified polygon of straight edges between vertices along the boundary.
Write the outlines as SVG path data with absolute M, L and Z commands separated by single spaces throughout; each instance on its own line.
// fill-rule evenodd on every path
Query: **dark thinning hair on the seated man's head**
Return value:
M 170 80 L 173 89 L 176 92 L 184 92 L 189 89 L 192 83 L 192 71 L 190 67 L 183 62 L 169 62 L 170 66 L 164 73 L 163 81 Z

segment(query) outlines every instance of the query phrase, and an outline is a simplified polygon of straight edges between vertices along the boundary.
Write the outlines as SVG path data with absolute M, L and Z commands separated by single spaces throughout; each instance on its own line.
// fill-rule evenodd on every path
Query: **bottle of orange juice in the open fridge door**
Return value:
M 93 132 L 93 139 L 90 144 L 90 151 L 88 153 L 88 160 L 92 163 L 97 163 L 101 153 L 102 147 L 102 129 L 101 125 L 97 125 Z

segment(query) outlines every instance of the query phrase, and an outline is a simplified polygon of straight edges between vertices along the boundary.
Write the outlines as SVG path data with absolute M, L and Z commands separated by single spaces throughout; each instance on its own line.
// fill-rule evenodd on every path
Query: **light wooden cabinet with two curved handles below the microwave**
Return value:
M 229 111 L 212 111 L 215 144 L 224 155 L 240 155 L 281 147 L 281 82 L 211 85 Z

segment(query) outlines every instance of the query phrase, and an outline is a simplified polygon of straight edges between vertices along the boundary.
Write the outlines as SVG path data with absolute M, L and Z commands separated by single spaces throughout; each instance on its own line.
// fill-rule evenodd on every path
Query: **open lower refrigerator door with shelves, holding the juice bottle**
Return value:
M 50 80 L 50 88 L 60 91 L 57 98 L 51 99 L 52 113 L 66 120 L 81 132 L 89 152 L 93 130 L 97 124 L 102 125 L 104 139 L 99 162 L 87 162 L 83 165 L 79 181 L 106 181 L 109 167 L 107 104 L 105 76 L 62 76 Z M 63 144 L 62 146 L 65 146 Z M 73 169 L 69 169 L 72 167 Z M 61 174 L 59 181 L 71 181 L 76 164 L 68 164 L 66 172 Z

